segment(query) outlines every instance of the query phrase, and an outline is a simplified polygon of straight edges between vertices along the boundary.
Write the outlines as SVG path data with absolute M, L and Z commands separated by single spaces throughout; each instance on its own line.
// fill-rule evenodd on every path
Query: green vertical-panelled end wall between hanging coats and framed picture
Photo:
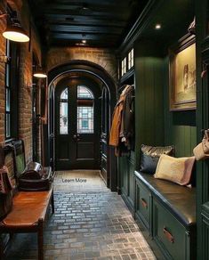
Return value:
M 149 53 L 150 48 L 151 53 Z M 164 145 L 163 59 L 153 53 L 153 45 L 135 47 L 136 167 L 141 144 Z M 144 52 L 146 51 L 146 52 Z

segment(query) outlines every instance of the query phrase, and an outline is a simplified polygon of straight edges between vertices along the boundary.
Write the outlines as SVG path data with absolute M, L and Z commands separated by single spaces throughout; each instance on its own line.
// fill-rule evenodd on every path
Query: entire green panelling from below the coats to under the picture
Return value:
M 134 46 L 135 153 L 118 159 L 122 195 L 133 207 L 134 167 L 140 167 L 141 144 L 174 145 L 176 157 L 191 156 L 196 145 L 196 111 L 169 110 L 169 60 L 153 42 Z

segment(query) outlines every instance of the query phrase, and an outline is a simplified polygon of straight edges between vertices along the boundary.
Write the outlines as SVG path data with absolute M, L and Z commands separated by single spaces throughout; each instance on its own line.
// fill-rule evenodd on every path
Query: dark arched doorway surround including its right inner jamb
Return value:
M 99 65 L 92 63 L 90 61 L 70 61 L 68 64 L 60 65 L 49 71 L 48 73 L 48 94 L 49 94 L 49 120 L 48 126 L 44 126 L 44 155 L 45 161 L 47 164 L 51 164 L 54 166 L 56 161 L 55 158 L 55 100 L 56 100 L 56 85 L 61 78 L 65 77 L 85 77 L 91 78 L 92 80 L 99 82 L 100 85 L 100 102 L 103 104 L 102 97 L 106 97 L 108 106 L 106 106 L 106 118 L 108 120 L 110 127 L 110 118 L 112 112 L 114 110 L 116 100 L 117 100 L 117 92 L 116 85 L 109 74 L 105 69 L 101 68 Z M 106 95 L 101 95 L 103 93 L 103 89 L 106 89 Z M 103 106 L 103 105 L 102 105 Z M 103 106 L 104 107 L 104 106 Z M 104 113 L 102 112 L 102 115 Z M 101 112 L 100 112 L 101 117 Z M 101 118 L 103 122 L 104 119 Z M 102 167 L 106 171 L 106 174 L 103 175 L 107 186 L 111 189 L 111 191 L 117 191 L 117 159 L 114 156 L 114 150 L 109 147 L 109 128 L 107 129 L 107 133 L 103 133 L 103 128 L 100 125 L 100 148 L 101 154 L 100 158 L 105 158 L 102 161 Z

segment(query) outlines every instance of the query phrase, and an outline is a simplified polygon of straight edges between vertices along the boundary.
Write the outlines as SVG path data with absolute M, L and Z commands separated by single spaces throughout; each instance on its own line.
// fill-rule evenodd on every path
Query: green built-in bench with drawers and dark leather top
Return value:
M 196 259 L 196 189 L 135 171 L 135 217 L 165 259 Z

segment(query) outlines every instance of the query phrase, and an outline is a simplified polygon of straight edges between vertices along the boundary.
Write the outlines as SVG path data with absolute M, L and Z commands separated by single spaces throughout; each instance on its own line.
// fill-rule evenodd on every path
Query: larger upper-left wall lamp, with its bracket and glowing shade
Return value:
M 5 6 L 5 10 L 8 10 L 7 6 Z M 20 20 L 17 18 L 17 12 L 8 11 L 7 13 L 2 13 L 0 15 L 0 19 L 4 17 L 7 17 L 7 26 L 3 32 L 3 37 L 13 42 L 28 42 L 29 37 L 26 31 L 20 25 Z

